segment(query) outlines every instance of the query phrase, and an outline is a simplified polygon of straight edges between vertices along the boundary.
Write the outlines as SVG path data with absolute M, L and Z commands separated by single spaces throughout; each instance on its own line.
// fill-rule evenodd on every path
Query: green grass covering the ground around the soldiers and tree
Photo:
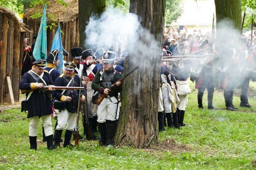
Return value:
M 256 159 L 256 83 L 250 83 L 252 108 L 226 111 L 223 91 L 216 89 L 213 105 L 220 110 L 197 108 L 197 89 L 185 112 L 187 126 L 181 130 L 167 128 L 159 134 L 159 146 L 99 147 L 97 141 L 80 142 L 76 148 L 50 151 L 42 140 L 42 122 L 38 127 L 38 150 L 30 150 L 29 119 L 20 109 L 0 112 L 0 169 L 255 169 Z M 233 104 L 239 106 L 240 89 Z M 207 108 L 207 91 L 203 97 Z M 52 118 L 53 126 L 55 119 Z M 81 130 L 83 133 L 83 130 Z

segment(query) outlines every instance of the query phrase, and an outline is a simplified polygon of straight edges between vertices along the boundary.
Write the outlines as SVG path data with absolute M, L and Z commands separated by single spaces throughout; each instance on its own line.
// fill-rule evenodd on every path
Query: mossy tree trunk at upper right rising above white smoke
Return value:
M 241 0 L 215 0 L 216 8 L 216 42 L 218 46 L 223 46 L 223 40 L 227 33 L 236 35 L 242 25 Z

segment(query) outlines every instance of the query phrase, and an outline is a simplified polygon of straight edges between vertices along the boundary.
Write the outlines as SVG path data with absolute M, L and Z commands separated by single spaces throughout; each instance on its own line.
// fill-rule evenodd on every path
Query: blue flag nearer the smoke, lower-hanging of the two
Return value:
M 56 67 L 56 70 L 58 70 L 59 73 L 62 74 L 62 71 L 63 71 L 63 50 L 62 50 L 60 24 L 59 24 L 58 30 L 55 33 L 51 51 L 56 50 L 56 49 L 58 50 L 58 58 L 59 58 L 59 63 L 58 63 L 58 66 Z

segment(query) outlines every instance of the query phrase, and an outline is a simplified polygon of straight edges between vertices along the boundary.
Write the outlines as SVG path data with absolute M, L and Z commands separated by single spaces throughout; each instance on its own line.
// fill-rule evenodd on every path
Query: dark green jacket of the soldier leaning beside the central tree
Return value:
M 101 74 L 100 72 L 102 71 L 102 69 L 98 70 L 97 73 L 95 74 L 95 77 L 93 79 L 93 82 L 91 83 L 91 88 L 93 88 L 95 91 L 99 91 L 101 94 L 104 93 L 104 89 L 108 88 L 108 84 L 105 83 L 104 87 L 101 87 L 99 84 L 101 83 L 100 81 L 100 77 Z M 111 82 L 112 84 L 114 84 L 115 82 L 117 82 L 118 80 L 120 80 L 122 78 L 122 74 L 119 73 L 118 71 L 116 71 L 113 81 Z M 102 76 L 102 80 L 104 80 L 104 77 Z M 111 92 L 109 93 L 110 97 L 118 97 L 118 93 L 122 91 L 122 85 L 120 86 L 115 86 L 111 88 Z

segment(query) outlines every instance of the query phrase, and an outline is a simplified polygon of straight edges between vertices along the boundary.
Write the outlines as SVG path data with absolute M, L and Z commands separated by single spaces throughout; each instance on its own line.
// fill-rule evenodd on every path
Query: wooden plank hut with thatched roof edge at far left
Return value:
M 0 7 L 0 103 L 19 101 L 19 80 L 26 28 L 12 11 Z M 27 30 L 29 31 L 29 30 Z

